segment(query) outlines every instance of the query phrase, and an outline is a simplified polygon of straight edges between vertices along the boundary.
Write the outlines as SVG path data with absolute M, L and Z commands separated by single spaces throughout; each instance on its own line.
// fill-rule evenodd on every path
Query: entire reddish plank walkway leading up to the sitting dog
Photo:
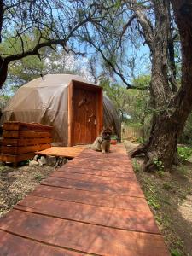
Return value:
M 122 145 L 84 149 L 0 219 L 0 255 L 166 256 Z

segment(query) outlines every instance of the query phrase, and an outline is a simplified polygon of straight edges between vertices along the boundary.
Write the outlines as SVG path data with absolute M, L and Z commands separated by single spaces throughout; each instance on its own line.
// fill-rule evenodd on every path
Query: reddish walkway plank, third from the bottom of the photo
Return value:
M 122 230 L 160 234 L 151 212 L 134 212 L 109 207 L 84 205 L 71 201 L 27 196 L 15 209 L 66 218 L 87 224 L 97 224 Z

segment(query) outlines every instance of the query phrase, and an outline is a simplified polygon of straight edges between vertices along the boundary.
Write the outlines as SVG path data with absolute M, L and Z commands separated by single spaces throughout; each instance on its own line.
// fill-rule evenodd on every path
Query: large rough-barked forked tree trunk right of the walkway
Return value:
M 149 45 L 152 51 L 150 88 L 151 104 L 154 108 L 152 129 L 148 143 L 131 152 L 132 157 L 141 153 L 146 155 L 145 171 L 153 169 L 157 161 L 161 161 L 165 169 L 171 168 L 172 164 L 176 163 L 177 137 L 183 131 L 186 119 L 192 110 L 192 4 L 188 0 L 172 0 L 183 54 L 182 85 L 174 96 L 174 91 L 171 90 L 172 87 L 168 82 L 166 64 L 169 38 L 166 38 L 165 34 L 168 29 L 165 20 L 168 15 L 166 9 L 162 10 L 163 5 L 160 7 L 160 3 L 164 5 L 165 2 L 154 1 L 156 33 L 153 44 Z M 164 7 L 166 8 L 166 3 Z

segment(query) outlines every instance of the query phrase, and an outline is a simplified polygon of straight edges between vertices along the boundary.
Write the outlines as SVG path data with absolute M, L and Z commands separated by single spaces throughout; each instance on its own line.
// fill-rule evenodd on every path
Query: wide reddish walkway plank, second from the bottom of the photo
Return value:
M 18 218 L 20 216 L 20 218 Z M 15 222 L 15 219 L 17 221 Z M 31 212 L 12 210 L 0 220 L 2 230 L 99 255 L 166 255 L 160 235 L 112 229 Z M 152 242 L 153 240 L 153 242 Z

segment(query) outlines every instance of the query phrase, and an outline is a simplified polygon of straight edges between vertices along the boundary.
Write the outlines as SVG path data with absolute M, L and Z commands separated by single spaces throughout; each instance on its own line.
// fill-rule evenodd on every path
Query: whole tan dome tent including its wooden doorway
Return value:
M 48 74 L 16 91 L 1 122 L 52 125 L 53 142 L 62 146 L 92 143 L 103 125 L 120 139 L 119 115 L 102 88 L 71 74 Z

